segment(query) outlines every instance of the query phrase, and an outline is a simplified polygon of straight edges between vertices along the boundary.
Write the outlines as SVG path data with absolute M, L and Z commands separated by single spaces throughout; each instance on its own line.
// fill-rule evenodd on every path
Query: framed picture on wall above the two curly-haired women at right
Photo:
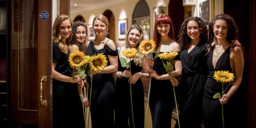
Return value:
M 197 0 L 196 3 L 197 16 L 203 19 L 206 24 L 212 20 L 212 5 L 212 0 Z

